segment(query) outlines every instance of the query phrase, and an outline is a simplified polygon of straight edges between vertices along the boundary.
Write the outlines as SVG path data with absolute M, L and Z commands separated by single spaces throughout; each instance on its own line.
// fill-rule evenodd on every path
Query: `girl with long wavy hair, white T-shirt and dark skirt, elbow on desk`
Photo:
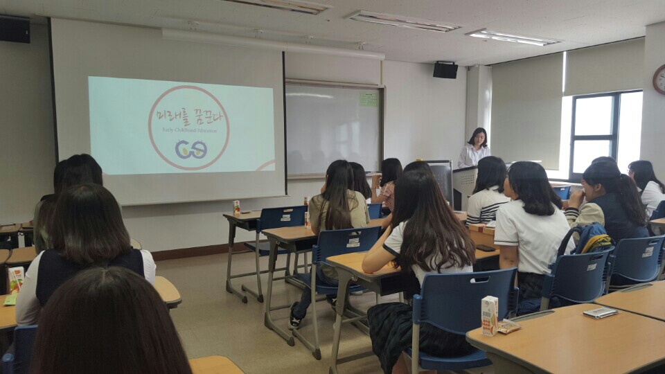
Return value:
M 396 185 L 391 227 L 362 261 L 368 273 L 390 262 L 413 271 L 423 283 L 426 274 L 473 271 L 475 248 L 467 229 L 445 202 L 432 173 L 405 172 Z M 383 303 L 367 312 L 372 349 L 384 373 L 407 373 L 402 351 L 411 346 L 411 307 Z M 464 335 L 420 325 L 420 350 L 436 356 L 454 357 L 472 350 Z

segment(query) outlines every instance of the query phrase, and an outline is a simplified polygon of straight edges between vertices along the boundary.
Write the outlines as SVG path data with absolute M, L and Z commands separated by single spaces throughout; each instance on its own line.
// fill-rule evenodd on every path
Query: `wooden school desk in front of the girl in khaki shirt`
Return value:
M 369 222 L 368 226 L 381 226 L 382 218 L 376 218 Z M 280 227 L 278 229 L 267 229 L 262 231 L 270 242 L 270 256 L 268 259 L 268 290 L 265 296 L 265 317 L 263 323 L 265 327 L 273 330 L 277 335 L 281 336 L 287 344 L 294 346 L 296 343 L 293 336 L 286 332 L 283 328 L 276 326 L 272 319 L 272 314 L 274 310 L 281 310 L 289 308 L 291 304 L 283 305 L 272 305 L 272 283 L 278 279 L 274 278 L 274 272 L 278 269 L 275 269 L 275 262 L 277 259 L 277 249 L 282 248 L 290 251 L 291 253 L 299 253 L 302 251 L 308 251 L 312 249 L 312 245 L 317 244 L 319 235 L 316 235 L 312 232 L 311 229 L 308 229 L 305 226 L 292 226 L 292 227 Z M 304 288 L 307 285 L 301 283 L 294 275 L 286 274 L 284 277 L 279 279 L 285 279 L 286 281 L 293 281 L 299 287 Z

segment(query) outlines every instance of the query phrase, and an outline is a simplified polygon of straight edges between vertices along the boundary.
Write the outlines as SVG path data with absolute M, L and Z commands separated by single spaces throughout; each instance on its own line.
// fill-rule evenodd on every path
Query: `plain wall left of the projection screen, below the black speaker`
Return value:
M 31 43 L 0 42 L 0 223 L 26 222 L 53 193 L 55 141 L 48 31 L 30 25 Z

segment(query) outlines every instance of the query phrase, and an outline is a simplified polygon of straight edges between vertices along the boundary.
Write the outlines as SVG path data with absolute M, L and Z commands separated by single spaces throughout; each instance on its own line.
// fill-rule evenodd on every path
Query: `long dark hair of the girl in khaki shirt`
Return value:
M 348 205 L 348 190 L 353 188 L 353 169 L 344 160 L 332 161 L 326 171 L 326 190 L 321 194 L 328 201 L 326 230 L 351 229 L 351 209 Z M 353 199 L 353 204 L 358 202 Z M 320 209 L 323 213 L 323 209 Z

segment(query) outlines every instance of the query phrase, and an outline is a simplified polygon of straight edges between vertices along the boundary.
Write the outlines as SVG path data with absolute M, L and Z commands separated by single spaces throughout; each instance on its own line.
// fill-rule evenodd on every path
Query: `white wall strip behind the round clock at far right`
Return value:
M 665 22 L 646 26 L 644 44 L 644 94 L 642 96 L 641 159 L 653 163 L 659 179 L 665 178 L 665 95 L 653 89 L 653 74 L 665 64 Z

